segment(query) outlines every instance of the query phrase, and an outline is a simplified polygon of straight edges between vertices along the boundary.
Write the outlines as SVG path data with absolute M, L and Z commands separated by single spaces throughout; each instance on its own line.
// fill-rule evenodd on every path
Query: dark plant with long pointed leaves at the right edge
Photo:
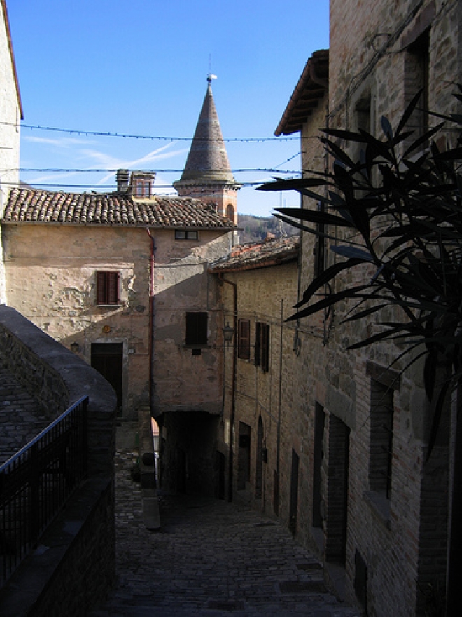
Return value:
M 455 96 L 462 101 L 460 87 Z M 395 130 L 381 118 L 382 140 L 365 130 L 323 130 L 332 172 L 258 189 L 295 189 L 321 202 L 321 210 L 276 208 L 276 216 L 332 240 L 330 249 L 344 258 L 314 278 L 289 319 L 353 301 L 343 321 L 375 318 L 377 327 L 349 349 L 388 340 L 404 348 L 399 358 L 407 355 L 407 367 L 425 358 L 426 393 L 434 402 L 431 451 L 444 400 L 462 378 L 462 147 L 457 140 L 440 149 L 433 138 L 444 121 L 462 125 L 462 116 L 439 116 L 442 123 L 413 140 L 406 125 L 419 97 Z M 362 144 L 358 161 L 341 140 Z M 360 277 L 361 283 L 326 292 L 335 277 L 364 266 L 370 276 Z M 394 310 L 384 312 L 390 306 Z M 437 379 L 442 373 L 444 379 Z

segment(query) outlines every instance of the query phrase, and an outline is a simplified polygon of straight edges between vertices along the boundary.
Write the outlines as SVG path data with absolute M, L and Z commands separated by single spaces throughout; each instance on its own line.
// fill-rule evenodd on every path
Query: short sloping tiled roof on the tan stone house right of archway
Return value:
M 299 245 L 300 236 L 242 244 L 233 248 L 228 257 L 211 264 L 210 271 L 229 272 L 279 266 L 297 259 Z

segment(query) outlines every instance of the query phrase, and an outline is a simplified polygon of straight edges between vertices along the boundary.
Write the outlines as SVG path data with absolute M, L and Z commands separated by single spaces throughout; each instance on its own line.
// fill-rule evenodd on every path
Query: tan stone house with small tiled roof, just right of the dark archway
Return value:
M 293 397 L 297 332 L 284 323 L 297 301 L 299 238 L 237 246 L 211 266 L 223 300 L 223 417 L 217 443 L 217 496 L 295 522 L 289 506 L 291 453 L 304 427 Z M 296 412 L 294 416 L 293 412 Z M 297 447 L 297 451 L 300 448 Z

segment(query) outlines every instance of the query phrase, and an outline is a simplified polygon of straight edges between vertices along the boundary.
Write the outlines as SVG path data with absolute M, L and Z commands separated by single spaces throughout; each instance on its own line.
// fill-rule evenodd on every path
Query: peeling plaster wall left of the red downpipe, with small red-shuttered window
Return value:
M 3 225 L 8 304 L 89 365 L 122 347 L 120 412 L 149 403 L 151 240 L 145 229 Z M 119 304 L 97 304 L 97 271 L 119 273 Z

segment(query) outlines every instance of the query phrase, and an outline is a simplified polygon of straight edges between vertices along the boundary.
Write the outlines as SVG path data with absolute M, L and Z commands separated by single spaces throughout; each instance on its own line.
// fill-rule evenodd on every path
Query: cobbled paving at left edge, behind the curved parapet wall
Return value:
M 49 424 L 36 399 L 0 362 L 0 465 Z

